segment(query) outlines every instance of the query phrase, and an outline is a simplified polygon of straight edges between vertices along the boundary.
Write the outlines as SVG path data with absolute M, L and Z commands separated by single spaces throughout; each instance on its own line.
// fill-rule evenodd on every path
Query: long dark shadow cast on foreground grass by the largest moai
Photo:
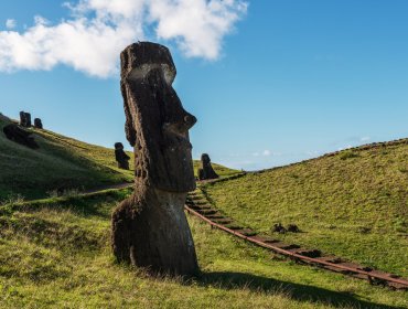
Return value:
M 246 273 L 215 271 L 201 273 L 196 279 L 201 286 L 216 286 L 222 289 L 249 289 L 265 294 L 282 294 L 293 300 L 326 303 L 336 308 L 404 309 L 358 299 L 353 292 L 333 291 L 320 287 L 281 281 Z

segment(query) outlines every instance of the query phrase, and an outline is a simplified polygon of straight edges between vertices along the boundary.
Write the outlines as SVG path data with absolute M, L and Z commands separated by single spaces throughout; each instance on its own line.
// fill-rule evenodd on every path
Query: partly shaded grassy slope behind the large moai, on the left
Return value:
M 32 150 L 6 138 L 2 129 L 10 122 L 0 115 L 0 202 L 17 195 L 36 199 L 55 190 L 86 190 L 133 180 L 132 171 L 117 168 L 114 149 L 32 128 L 40 145 Z M 130 169 L 132 163 L 133 159 Z M 222 175 L 236 172 L 221 166 L 216 170 Z

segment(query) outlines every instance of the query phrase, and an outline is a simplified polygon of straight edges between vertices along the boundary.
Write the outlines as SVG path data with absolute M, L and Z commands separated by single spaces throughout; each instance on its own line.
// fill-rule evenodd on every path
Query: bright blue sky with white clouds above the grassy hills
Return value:
M 171 49 L 174 88 L 198 118 L 195 158 L 208 152 L 253 170 L 408 137 L 406 0 L 228 0 L 210 9 L 204 0 L 180 0 L 176 10 L 154 0 L 147 1 L 149 17 L 137 14 L 139 0 L 85 0 L 80 12 L 71 1 L 83 19 L 103 15 L 96 45 L 93 36 L 69 45 L 71 36 L 53 34 L 79 19 L 63 2 L 0 2 L 1 113 L 31 111 L 46 128 L 97 145 L 125 141 L 115 49 L 150 40 Z M 189 19 L 191 10 L 207 23 Z M 93 31 L 89 23 L 84 31 Z M 111 24 L 117 33 L 106 29 Z M 20 57 L 33 46 L 41 56 Z

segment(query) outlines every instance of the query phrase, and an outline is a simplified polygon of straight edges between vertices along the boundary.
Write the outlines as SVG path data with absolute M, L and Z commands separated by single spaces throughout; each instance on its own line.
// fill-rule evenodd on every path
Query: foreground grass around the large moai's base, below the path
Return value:
M 130 192 L 0 207 L 0 308 L 407 308 L 406 294 L 372 287 L 190 220 L 202 275 L 152 278 L 117 265 L 110 212 Z

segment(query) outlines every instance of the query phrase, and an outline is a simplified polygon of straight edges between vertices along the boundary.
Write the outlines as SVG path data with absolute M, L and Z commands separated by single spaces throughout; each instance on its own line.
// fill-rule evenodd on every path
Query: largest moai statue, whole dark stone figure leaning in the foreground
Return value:
M 114 254 L 153 274 L 194 275 L 198 265 L 184 203 L 195 189 L 189 129 L 196 118 L 172 87 L 176 71 L 165 46 L 139 42 L 120 57 L 136 180 L 132 196 L 112 213 Z

